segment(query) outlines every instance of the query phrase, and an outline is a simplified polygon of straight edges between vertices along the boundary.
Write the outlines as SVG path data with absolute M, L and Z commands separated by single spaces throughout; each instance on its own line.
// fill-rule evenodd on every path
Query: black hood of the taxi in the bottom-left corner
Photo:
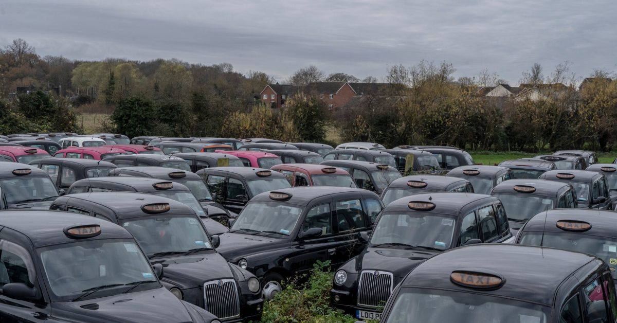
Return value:
M 52 317 L 71 322 L 192 322 L 176 296 L 164 287 L 143 292 L 52 303 Z

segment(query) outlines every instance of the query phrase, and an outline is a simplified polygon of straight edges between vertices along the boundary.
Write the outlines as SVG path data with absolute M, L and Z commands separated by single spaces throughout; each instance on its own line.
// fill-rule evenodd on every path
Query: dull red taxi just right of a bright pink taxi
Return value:
M 285 175 L 292 187 L 337 186 L 357 187 L 354 178 L 341 168 L 315 164 L 280 164 L 270 167 Z

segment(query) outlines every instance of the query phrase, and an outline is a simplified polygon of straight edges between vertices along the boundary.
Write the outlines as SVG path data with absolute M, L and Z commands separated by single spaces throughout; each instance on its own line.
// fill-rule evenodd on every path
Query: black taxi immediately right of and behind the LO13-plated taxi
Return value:
M 557 208 L 578 208 L 576 191 L 568 183 L 552 180 L 507 180 L 497 184 L 491 195 L 502 201 L 510 229 L 521 229 L 539 212 Z

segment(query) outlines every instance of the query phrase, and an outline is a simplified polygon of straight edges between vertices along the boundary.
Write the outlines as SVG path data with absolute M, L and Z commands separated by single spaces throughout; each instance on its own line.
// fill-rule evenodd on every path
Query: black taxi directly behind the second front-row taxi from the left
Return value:
M 188 187 L 181 183 L 159 180 L 146 177 L 99 177 L 78 180 L 68 188 L 67 195 L 85 192 L 110 192 L 110 191 L 133 191 L 147 193 L 184 203 L 199 216 L 204 222 L 208 234 L 218 235 L 227 232 L 227 227 L 219 222 L 209 219 L 207 210 L 199 204 L 197 198 Z

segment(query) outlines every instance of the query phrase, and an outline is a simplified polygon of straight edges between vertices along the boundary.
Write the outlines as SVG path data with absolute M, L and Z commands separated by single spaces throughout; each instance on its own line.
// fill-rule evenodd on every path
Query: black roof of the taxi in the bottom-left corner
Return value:
M 0 226 L 22 233 L 32 241 L 35 248 L 75 242 L 64 234 L 64 229 L 78 225 L 96 224 L 101 226 L 101 234 L 80 240 L 99 240 L 109 238 L 129 238 L 133 236 L 119 225 L 80 214 L 49 210 L 5 210 L 0 211 Z

